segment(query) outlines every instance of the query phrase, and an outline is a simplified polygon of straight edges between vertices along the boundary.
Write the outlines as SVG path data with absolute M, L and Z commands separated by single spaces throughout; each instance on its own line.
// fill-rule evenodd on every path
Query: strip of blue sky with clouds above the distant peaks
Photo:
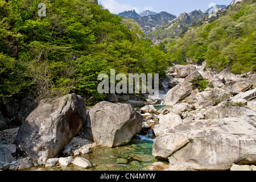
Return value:
M 181 13 L 189 13 L 193 10 L 205 11 L 210 3 L 216 5 L 229 5 L 232 0 L 98 0 L 111 13 L 134 10 L 141 13 L 143 10 L 151 10 L 156 13 L 166 11 L 176 16 Z

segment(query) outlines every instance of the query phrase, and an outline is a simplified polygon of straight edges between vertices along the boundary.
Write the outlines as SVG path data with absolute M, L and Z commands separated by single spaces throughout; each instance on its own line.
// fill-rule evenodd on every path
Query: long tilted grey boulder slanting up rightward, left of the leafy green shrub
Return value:
M 200 76 L 199 72 L 192 72 L 183 82 L 169 90 L 166 96 L 164 96 L 164 104 L 167 106 L 174 106 L 177 102 L 189 96 L 192 91 L 196 89 L 195 85 L 189 81 L 198 76 Z

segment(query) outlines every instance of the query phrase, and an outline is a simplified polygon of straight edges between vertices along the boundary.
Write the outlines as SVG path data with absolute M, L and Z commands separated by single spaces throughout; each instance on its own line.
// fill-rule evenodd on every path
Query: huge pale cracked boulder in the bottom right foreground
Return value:
M 233 163 L 256 162 L 255 131 L 255 127 L 239 118 L 183 122 L 155 139 L 152 154 L 172 165 L 227 170 Z

